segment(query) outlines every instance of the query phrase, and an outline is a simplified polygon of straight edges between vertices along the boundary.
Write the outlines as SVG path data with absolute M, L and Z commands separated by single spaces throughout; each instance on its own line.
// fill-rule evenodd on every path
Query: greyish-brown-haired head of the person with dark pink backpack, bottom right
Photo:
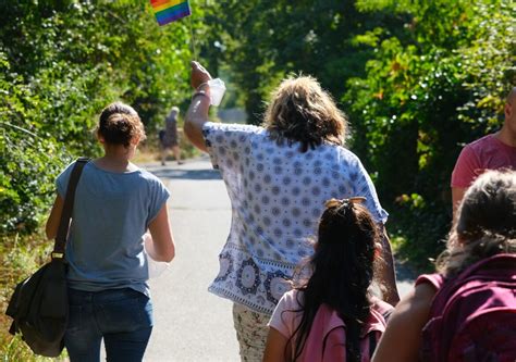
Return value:
M 488 171 L 466 191 L 438 269 L 453 275 L 502 252 L 516 252 L 516 172 Z

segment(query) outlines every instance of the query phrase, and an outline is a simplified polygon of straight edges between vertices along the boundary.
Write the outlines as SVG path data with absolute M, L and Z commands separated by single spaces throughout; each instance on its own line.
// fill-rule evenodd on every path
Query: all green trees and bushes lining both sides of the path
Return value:
M 98 152 L 103 105 L 132 103 L 155 130 L 187 103 L 195 39 L 251 123 L 286 74 L 316 76 L 349 115 L 349 147 L 390 232 L 425 260 L 450 227 L 460 148 L 500 126 L 516 84 L 515 11 L 503 0 L 191 1 L 193 16 L 164 27 L 132 0 L 0 4 L 2 234 L 34 230 L 63 164 Z

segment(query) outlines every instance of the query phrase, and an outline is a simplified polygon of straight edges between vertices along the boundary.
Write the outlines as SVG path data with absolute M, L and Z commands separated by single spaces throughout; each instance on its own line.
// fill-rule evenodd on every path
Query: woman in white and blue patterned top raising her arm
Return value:
M 225 182 L 232 224 L 209 290 L 234 302 L 243 361 L 262 358 L 272 311 L 291 289 L 287 279 L 311 255 L 309 239 L 324 202 L 361 196 L 382 233 L 384 298 L 398 300 L 382 209 L 360 160 L 343 147 L 346 118 L 316 79 L 285 79 L 274 91 L 265 126 L 208 120 L 210 74 L 192 63 L 196 89 L 185 117 L 189 140 L 211 157 Z

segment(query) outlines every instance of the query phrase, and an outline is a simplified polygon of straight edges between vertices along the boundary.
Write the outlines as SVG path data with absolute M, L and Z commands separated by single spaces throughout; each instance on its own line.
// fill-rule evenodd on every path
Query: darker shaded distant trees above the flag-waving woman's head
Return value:
M 351 0 L 230 0 L 206 14 L 217 28 L 207 45 L 219 45 L 217 59 L 230 68 L 250 122 L 258 124 L 263 101 L 288 73 L 317 75 L 334 95 L 342 95 L 351 76 L 365 74 L 364 64 L 373 53 L 357 45 L 355 36 L 379 25 L 397 32 L 402 17 L 361 13 Z

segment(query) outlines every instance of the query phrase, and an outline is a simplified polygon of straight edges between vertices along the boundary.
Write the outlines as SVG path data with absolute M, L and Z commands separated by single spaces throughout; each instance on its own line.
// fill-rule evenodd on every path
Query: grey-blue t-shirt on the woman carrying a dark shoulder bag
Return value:
M 74 163 L 56 182 L 63 199 Z M 128 287 L 148 296 L 143 235 L 169 196 L 147 171 L 113 173 L 88 162 L 66 242 L 69 286 L 85 291 Z

